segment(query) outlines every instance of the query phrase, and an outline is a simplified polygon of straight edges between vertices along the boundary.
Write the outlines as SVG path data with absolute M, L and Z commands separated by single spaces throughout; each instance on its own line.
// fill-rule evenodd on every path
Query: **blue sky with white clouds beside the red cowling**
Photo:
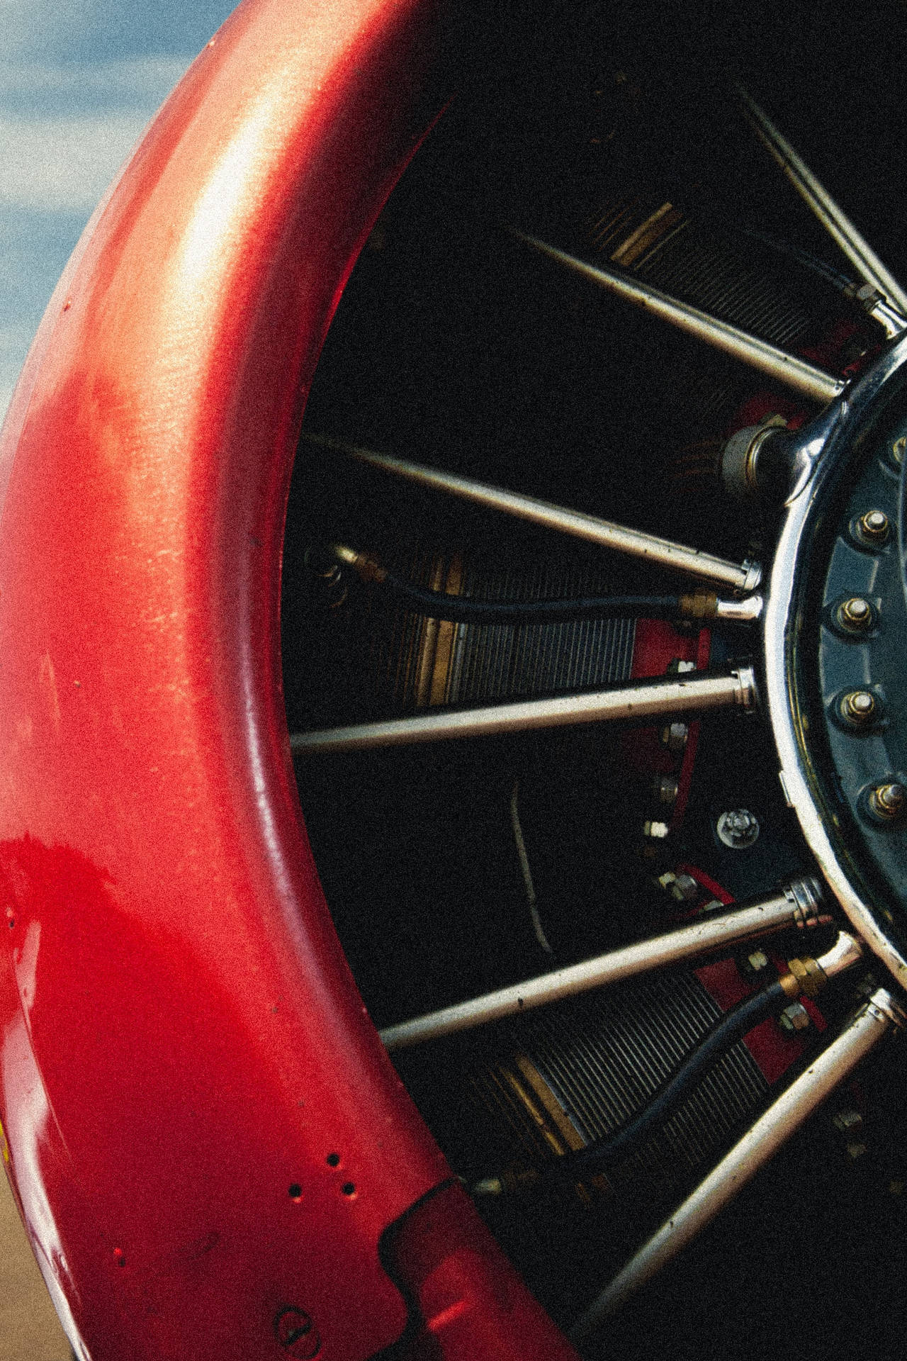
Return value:
M 54 283 L 230 0 L 0 0 L 0 418 Z

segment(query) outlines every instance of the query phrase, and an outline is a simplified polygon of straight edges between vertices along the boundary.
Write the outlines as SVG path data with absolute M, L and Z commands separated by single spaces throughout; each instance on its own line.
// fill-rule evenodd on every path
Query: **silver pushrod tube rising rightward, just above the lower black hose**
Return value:
M 815 881 L 795 881 L 768 898 L 744 904 L 730 912 L 707 912 L 689 925 L 668 931 L 665 935 L 638 940 L 620 950 L 583 960 L 582 964 L 555 969 L 538 979 L 499 988 L 496 992 L 487 992 L 481 998 L 472 998 L 469 1002 L 460 1002 L 412 1021 L 401 1021 L 382 1030 L 381 1038 L 386 1049 L 404 1049 L 457 1030 L 488 1025 L 491 1021 L 500 1021 L 503 1017 L 517 1015 L 551 1002 L 560 1002 L 590 988 L 602 988 L 653 969 L 698 960 L 714 950 L 741 945 L 744 940 L 761 939 L 794 924 L 812 925 L 820 920 L 816 913 L 817 901 L 819 889 Z

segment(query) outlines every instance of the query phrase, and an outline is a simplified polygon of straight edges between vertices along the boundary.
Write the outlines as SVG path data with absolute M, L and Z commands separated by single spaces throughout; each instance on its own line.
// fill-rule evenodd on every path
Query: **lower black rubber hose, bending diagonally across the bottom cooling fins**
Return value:
M 738 1040 L 749 1034 L 761 1021 L 783 1011 L 789 1004 L 790 996 L 781 983 L 770 983 L 768 987 L 744 998 L 730 1011 L 725 1011 L 723 1017 L 687 1055 L 673 1077 L 655 1093 L 643 1111 L 606 1139 L 597 1139 L 594 1143 L 586 1145 L 585 1149 L 567 1153 L 556 1161 L 545 1164 L 544 1168 L 538 1169 L 541 1181 L 552 1179 L 575 1181 L 581 1176 L 605 1170 L 630 1153 L 635 1145 L 642 1143 L 654 1127 L 664 1124 L 670 1112 L 689 1096 L 700 1078 Z

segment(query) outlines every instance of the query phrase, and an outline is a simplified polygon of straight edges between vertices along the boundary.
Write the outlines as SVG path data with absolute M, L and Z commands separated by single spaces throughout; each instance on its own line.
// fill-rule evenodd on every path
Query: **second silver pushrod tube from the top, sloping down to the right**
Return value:
M 713 348 L 733 355 L 741 363 L 748 363 L 752 369 L 759 369 L 761 373 L 770 374 L 778 382 L 783 382 L 785 387 L 801 392 L 813 401 L 824 406 L 844 391 L 846 384 L 843 380 L 834 378 L 829 373 L 824 373 L 815 365 L 806 363 L 805 359 L 798 359 L 795 355 L 787 354 L 786 350 L 779 350 L 767 340 L 760 340 L 759 336 L 749 335 L 729 321 L 719 321 L 718 317 L 702 312 L 700 308 L 694 308 L 688 302 L 680 302 L 677 298 L 662 293 L 661 289 L 653 289 L 651 284 L 640 283 L 638 279 L 619 274 L 616 269 L 589 264 L 578 256 L 559 250 L 558 246 L 552 246 L 547 241 L 524 235 L 522 231 L 515 231 L 514 235 L 525 241 L 526 245 L 533 246 L 533 249 L 541 250 L 543 255 L 572 269 L 574 274 L 583 275 L 583 278 L 590 279 L 602 289 L 608 289 L 609 293 L 616 294 L 619 298 L 643 308 L 651 316 L 660 317 L 662 321 L 669 321 L 688 335 L 696 336 L 698 340 L 704 340 Z

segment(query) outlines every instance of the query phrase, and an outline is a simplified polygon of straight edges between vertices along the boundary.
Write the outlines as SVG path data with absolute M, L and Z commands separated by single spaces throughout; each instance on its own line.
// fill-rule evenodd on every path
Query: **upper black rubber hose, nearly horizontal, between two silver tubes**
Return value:
M 680 596 L 581 596 L 572 600 L 476 600 L 386 574 L 381 587 L 415 614 L 451 623 L 562 623 L 572 619 L 676 619 Z

